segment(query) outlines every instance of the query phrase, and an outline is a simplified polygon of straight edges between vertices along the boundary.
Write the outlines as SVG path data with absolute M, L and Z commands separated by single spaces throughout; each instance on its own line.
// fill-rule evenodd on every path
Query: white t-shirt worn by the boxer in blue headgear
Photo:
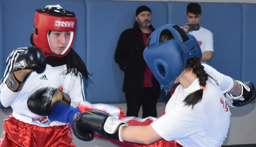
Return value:
M 202 100 L 193 109 L 183 102 L 187 95 L 200 89 L 198 78 L 188 88 L 179 85 L 166 105 L 165 115 L 151 123 L 162 138 L 184 147 L 220 147 L 229 129 L 231 113 L 223 93 L 231 90 L 233 80 L 202 65 L 213 77 L 208 77 Z

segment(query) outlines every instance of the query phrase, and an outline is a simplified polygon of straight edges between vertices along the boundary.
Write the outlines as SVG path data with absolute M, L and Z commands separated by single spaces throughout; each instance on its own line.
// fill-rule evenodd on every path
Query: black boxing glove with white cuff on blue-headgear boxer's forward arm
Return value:
M 127 123 L 114 118 L 108 113 L 100 110 L 89 110 L 76 116 L 72 128 L 78 131 L 88 129 L 102 136 L 123 141 L 121 139 L 121 128 L 123 126 L 127 126 Z

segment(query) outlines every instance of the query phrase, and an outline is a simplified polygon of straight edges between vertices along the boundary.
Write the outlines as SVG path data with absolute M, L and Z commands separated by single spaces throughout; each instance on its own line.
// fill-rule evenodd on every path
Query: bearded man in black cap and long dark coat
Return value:
M 143 59 L 148 37 L 155 30 L 151 25 L 150 8 L 138 7 L 135 19 L 133 28 L 126 29 L 120 35 L 115 50 L 115 62 L 124 71 L 122 90 L 126 96 L 126 115 L 138 117 L 142 106 L 142 118 L 157 117 L 160 85 Z

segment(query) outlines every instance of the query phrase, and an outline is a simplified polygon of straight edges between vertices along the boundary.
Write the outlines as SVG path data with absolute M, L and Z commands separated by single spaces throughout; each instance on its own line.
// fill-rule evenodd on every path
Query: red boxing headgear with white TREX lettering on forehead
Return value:
M 62 58 L 69 52 L 75 38 L 75 13 L 64 10 L 60 5 L 48 5 L 45 9 L 37 9 L 34 16 L 33 43 L 47 57 Z M 49 44 L 49 31 L 71 32 L 70 40 L 61 54 L 52 53 Z

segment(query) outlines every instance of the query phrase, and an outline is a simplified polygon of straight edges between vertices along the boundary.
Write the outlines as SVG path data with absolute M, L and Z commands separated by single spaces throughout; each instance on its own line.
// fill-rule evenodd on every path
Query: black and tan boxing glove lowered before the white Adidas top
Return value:
M 28 97 L 27 106 L 31 112 L 37 115 L 48 116 L 52 107 L 60 102 L 70 105 L 71 99 L 67 93 L 58 88 L 43 87 Z

